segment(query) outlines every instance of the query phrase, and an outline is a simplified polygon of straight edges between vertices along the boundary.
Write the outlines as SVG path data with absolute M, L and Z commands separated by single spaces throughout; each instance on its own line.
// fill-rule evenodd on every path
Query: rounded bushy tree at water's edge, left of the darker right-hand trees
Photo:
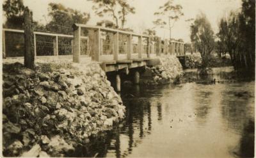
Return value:
M 202 56 L 203 67 L 207 67 L 207 60 L 214 49 L 214 32 L 204 13 L 197 15 L 190 29 L 191 42 L 195 43 L 196 48 Z

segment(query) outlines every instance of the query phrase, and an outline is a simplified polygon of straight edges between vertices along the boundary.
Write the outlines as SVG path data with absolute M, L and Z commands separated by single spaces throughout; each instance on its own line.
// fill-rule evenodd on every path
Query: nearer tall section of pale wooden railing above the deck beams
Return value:
M 88 26 L 84 24 L 74 24 L 74 62 L 79 62 L 80 56 L 80 39 L 81 29 L 88 31 L 88 40 L 90 50 L 92 51 L 92 59 L 95 61 L 118 61 L 118 60 L 131 60 L 131 59 L 142 59 L 149 58 L 148 43 L 149 36 L 140 35 L 128 31 L 121 31 L 118 29 L 103 28 L 99 26 Z M 106 45 L 102 40 L 102 32 L 105 32 L 106 38 L 109 40 L 110 48 L 108 50 L 102 49 L 102 45 Z M 120 37 L 122 36 L 122 42 Z M 137 37 L 138 43 L 133 43 L 132 38 Z M 143 41 L 143 38 L 145 38 Z M 125 40 L 124 40 L 125 39 Z M 125 44 L 124 44 L 125 43 Z M 145 44 L 146 43 L 146 44 Z M 107 44 L 107 45 L 108 45 Z M 146 45 L 147 51 L 143 51 L 144 45 Z M 100 47 L 101 46 L 101 47 Z M 120 46 L 125 46 L 124 53 L 120 53 Z M 136 52 L 134 52 L 136 47 Z M 144 48 L 145 49 L 145 48 Z M 106 53 L 111 52 L 111 54 Z

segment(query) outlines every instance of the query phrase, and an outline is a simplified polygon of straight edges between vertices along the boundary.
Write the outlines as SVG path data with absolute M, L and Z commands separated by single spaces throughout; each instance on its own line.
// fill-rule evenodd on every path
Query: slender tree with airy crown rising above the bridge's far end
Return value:
M 160 28 L 164 28 L 168 24 L 168 29 L 170 30 L 170 39 L 172 38 L 172 28 L 180 16 L 184 15 L 182 13 L 182 6 L 179 4 L 173 4 L 173 0 L 169 0 L 164 3 L 163 6 L 159 6 L 158 12 L 154 15 L 158 17 L 153 23 Z

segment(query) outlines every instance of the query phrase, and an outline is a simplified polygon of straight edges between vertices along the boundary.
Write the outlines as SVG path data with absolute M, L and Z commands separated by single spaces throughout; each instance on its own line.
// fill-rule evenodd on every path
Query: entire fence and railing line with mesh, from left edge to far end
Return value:
M 143 59 L 164 54 L 184 56 L 182 42 L 152 40 L 147 35 L 99 26 L 74 24 L 73 28 L 74 35 L 35 31 L 35 56 L 74 55 L 76 59 L 79 55 L 95 61 Z M 23 30 L 3 29 L 3 52 L 6 57 L 24 56 Z

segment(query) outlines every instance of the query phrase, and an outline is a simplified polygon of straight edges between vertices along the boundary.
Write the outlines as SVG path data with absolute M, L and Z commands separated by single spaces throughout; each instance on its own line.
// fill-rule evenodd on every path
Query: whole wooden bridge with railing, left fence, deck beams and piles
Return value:
M 159 63 L 157 62 L 159 61 L 159 56 L 171 54 L 184 58 L 185 55 L 184 43 L 182 42 L 161 40 L 161 38 L 152 38 L 147 35 L 100 26 L 74 24 L 72 28 L 74 35 L 35 31 L 34 45 L 36 58 L 73 58 L 73 61 L 76 63 L 93 60 L 99 62 L 105 72 L 122 71 L 128 74 L 129 70 L 133 70 L 134 83 L 139 83 L 140 73 L 136 69 L 146 65 L 156 65 Z M 3 52 L 7 58 L 10 57 L 10 52 L 6 50 L 6 43 L 12 42 L 6 40 L 6 33 L 8 32 L 24 34 L 23 30 L 3 29 Z M 52 45 L 52 54 L 45 56 L 42 52 L 38 52 L 40 47 L 37 44 L 41 41 L 37 39 L 40 36 L 50 36 L 53 39 L 52 42 L 45 42 L 48 45 Z M 68 54 L 60 52 L 60 38 L 68 38 L 70 40 L 70 52 Z M 83 49 L 84 45 L 86 45 L 85 51 Z M 23 56 L 23 54 L 20 54 L 20 56 Z M 118 85 L 120 86 L 120 76 L 118 73 L 116 73 L 116 83 L 117 87 Z M 120 90 L 120 88 L 116 89 Z

